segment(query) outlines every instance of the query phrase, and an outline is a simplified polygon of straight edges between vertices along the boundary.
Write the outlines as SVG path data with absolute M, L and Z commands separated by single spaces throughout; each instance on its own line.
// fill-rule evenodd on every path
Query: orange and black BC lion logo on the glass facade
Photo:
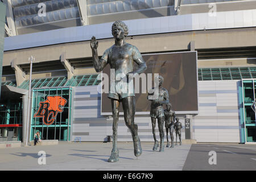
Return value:
M 39 102 L 38 112 L 34 114 L 34 118 L 43 118 L 44 125 L 51 125 L 57 114 L 63 112 L 67 100 L 60 96 L 48 96 L 47 100 Z

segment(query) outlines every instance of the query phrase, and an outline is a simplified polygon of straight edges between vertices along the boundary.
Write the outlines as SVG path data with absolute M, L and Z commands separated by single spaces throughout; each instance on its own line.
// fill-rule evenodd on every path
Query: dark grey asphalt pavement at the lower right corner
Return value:
M 216 164 L 209 164 L 210 151 L 216 152 Z M 237 143 L 192 144 L 184 171 L 255 171 L 256 145 Z

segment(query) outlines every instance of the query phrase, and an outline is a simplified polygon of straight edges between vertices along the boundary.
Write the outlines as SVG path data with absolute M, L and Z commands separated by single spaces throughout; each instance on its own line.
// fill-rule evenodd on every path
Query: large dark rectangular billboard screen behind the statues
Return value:
M 177 114 L 198 113 L 197 101 L 197 52 L 155 53 L 142 55 L 147 64 L 147 73 L 159 73 L 164 78 L 163 87 L 168 90 L 172 109 Z M 103 73 L 110 77 L 107 65 Z M 146 77 L 148 80 L 149 77 Z M 152 78 L 154 86 L 154 74 Z M 110 78 L 109 78 L 110 81 Z M 143 81 L 144 82 L 144 81 Z M 148 81 L 146 81 L 148 83 Z M 140 86 L 142 82 L 140 81 Z M 151 86 L 151 85 L 149 85 Z M 147 90 L 149 90 L 147 85 Z M 147 100 L 147 92 L 135 93 L 136 114 L 149 114 L 151 102 Z M 164 106 L 164 108 L 166 108 Z M 122 104 L 119 107 L 122 114 Z M 112 115 L 112 107 L 108 93 L 101 94 L 101 114 Z

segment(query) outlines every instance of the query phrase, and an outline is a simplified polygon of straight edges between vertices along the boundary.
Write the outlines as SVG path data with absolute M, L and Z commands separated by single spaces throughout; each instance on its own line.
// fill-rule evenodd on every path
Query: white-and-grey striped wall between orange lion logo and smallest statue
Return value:
M 109 106 L 111 107 L 110 100 Z M 101 116 L 101 94 L 97 92 L 97 86 L 79 86 L 74 89 L 73 96 L 73 121 L 72 140 L 81 137 L 82 141 L 106 141 L 108 135 L 112 135 L 113 119 L 110 116 Z M 180 118 L 184 126 L 184 118 Z M 138 125 L 138 134 L 142 142 L 154 142 L 152 135 L 151 118 L 149 115 L 136 115 L 135 123 Z M 164 129 L 164 131 L 166 131 Z M 184 139 L 184 128 L 181 130 Z M 170 134 L 168 134 L 170 139 Z M 159 142 L 158 125 L 156 124 L 156 137 Z M 164 134 L 166 140 L 166 132 Z M 125 125 L 123 115 L 119 116 L 118 141 L 131 142 L 131 134 Z M 178 139 L 179 141 L 179 139 Z

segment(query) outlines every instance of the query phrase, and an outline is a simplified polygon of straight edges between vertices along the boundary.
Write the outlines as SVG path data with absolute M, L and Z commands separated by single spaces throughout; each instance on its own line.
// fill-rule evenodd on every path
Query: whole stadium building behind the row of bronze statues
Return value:
M 172 85 L 179 92 L 188 92 L 183 89 L 186 86 L 193 88 L 195 94 L 183 101 L 175 92 L 169 93 L 170 101 L 179 103 L 181 108 L 172 103 L 184 126 L 183 139 L 256 142 L 256 1 L 2 2 L 6 4 L 6 20 L 0 141 L 24 142 L 27 131 L 29 140 L 40 131 L 43 139 L 48 140 L 107 141 L 112 135 L 113 118 L 111 112 L 102 110 L 104 104 L 109 109 L 110 100 L 103 103 L 103 95 L 98 92 L 101 80 L 93 68 L 90 39 L 96 36 L 101 56 L 114 44 L 113 22 L 123 20 L 129 28 L 127 43 L 136 46 L 145 57 L 170 55 L 174 57 L 172 61 L 180 59 L 185 63 L 185 59 L 190 59 L 188 53 L 196 55 L 191 56 L 191 63 L 195 61 L 191 69 L 187 64 L 177 67 L 180 69 L 176 80 L 181 86 Z M 29 104 L 31 56 L 35 60 Z M 162 68 L 159 59 L 150 61 Z M 196 78 L 193 85 L 186 80 L 190 70 L 191 77 Z M 185 77 L 183 84 L 181 72 Z M 168 77 L 164 82 L 172 84 Z M 53 102 L 55 109 L 43 111 L 44 106 L 48 108 Z M 142 100 L 137 105 L 148 105 L 148 102 Z M 194 104 L 196 109 L 182 109 L 189 104 Z M 135 122 L 141 141 L 152 142 L 149 111 L 138 111 Z M 156 135 L 159 139 L 159 134 Z M 131 140 L 120 115 L 118 141 Z

